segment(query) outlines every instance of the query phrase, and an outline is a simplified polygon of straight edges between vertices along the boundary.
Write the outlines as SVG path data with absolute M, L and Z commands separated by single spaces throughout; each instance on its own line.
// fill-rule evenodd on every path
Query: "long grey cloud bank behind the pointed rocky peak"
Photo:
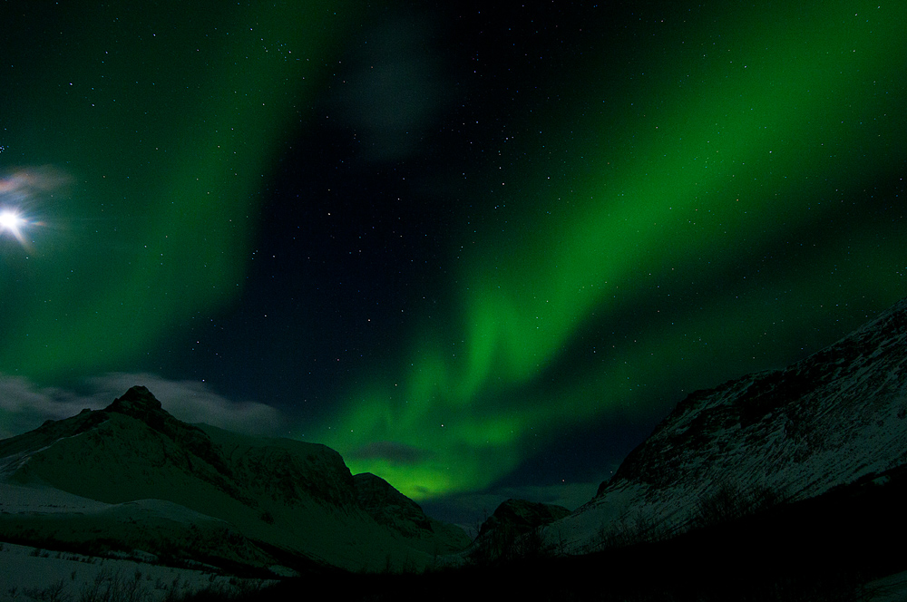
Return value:
M 264 403 L 235 402 L 198 381 L 171 381 L 157 374 L 111 373 L 88 378 L 77 393 L 43 387 L 22 376 L 0 374 L 0 439 L 31 431 L 46 420 L 69 418 L 83 408 L 100 410 L 131 386 L 142 384 L 167 412 L 183 422 L 206 422 L 233 432 L 277 434 L 284 417 Z

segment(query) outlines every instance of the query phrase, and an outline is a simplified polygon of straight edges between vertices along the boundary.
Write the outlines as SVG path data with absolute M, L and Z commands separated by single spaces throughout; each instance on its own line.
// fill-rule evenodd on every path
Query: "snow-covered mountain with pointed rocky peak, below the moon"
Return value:
M 324 445 L 180 422 L 141 386 L 0 441 L 0 488 L 0 538 L 46 548 L 383 570 L 469 544 Z

